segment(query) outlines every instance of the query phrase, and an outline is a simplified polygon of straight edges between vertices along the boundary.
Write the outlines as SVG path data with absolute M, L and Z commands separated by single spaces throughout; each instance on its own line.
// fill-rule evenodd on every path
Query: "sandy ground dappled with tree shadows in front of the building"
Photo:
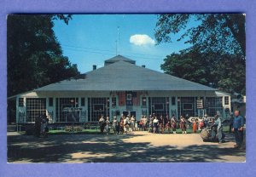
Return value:
M 245 162 L 233 134 L 224 144 L 200 134 L 73 134 L 36 138 L 8 134 L 9 163 Z

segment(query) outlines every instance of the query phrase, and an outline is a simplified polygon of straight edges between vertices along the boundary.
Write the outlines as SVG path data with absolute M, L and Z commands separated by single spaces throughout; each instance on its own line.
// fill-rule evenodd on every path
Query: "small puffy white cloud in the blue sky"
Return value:
M 146 34 L 135 34 L 130 37 L 130 43 L 134 45 L 154 45 L 154 39 Z

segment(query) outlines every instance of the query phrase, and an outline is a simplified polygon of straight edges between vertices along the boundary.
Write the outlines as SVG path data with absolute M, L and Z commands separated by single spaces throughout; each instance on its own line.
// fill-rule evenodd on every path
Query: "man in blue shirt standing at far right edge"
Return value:
M 240 116 L 239 111 L 235 111 L 235 117 L 233 120 L 233 128 L 232 131 L 235 134 L 235 139 L 236 139 L 236 145 L 235 148 L 241 148 L 242 146 L 242 141 L 243 141 L 243 117 Z

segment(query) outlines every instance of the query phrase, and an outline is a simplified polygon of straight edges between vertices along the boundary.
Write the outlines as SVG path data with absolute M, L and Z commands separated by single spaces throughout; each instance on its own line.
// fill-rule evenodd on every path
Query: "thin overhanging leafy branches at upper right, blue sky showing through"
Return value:
M 193 26 L 192 22 L 198 25 Z M 190 26 L 188 26 L 190 24 Z M 192 25 L 191 25 L 192 24 Z M 177 40 L 189 38 L 185 43 L 191 49 L 219 54 L 239 54 L 245 59 L 244 14 L 160 14 L 155 28 L 158 43 L 172 42 L 172 34 L 184 31 Z

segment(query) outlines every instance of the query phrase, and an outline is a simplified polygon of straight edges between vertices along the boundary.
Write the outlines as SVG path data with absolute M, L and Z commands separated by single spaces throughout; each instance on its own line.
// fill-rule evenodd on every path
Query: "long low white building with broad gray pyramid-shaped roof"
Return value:
M 97 122 L 123 115 L 199 117 L 230 114 L 230 94 L 199 83 L 136 66 L 117 55 L 105 66 L 16 98 L 16 123 L 34 123 L 45 113 L 50 123 Z

